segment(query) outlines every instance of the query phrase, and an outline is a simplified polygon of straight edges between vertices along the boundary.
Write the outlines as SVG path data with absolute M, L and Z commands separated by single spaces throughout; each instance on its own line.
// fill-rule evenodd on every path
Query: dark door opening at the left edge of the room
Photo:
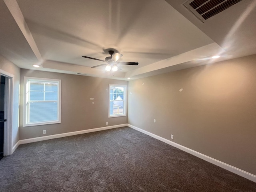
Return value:
M 4 157 L 4 90 L 5 77 L 1 75 L 0 79 L 0 160 Z

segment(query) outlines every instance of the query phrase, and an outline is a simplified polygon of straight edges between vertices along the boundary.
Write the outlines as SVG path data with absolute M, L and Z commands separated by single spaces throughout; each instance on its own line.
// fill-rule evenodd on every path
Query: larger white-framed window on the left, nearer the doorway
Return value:
M 60 123 L 61 80 L 24 77 L 23 126 Z

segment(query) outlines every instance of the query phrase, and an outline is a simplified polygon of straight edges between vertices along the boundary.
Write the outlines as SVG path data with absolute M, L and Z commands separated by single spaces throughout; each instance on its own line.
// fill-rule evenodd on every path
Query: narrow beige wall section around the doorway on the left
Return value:
M 14 90 L 13 90 L 13 116 L 12 116 L 12 146 L 19 140 L 18 130 L 18 111 L 19 111 L 19 87 L 20 87 L 20 68 L 12 62 L 0 55 L 0 69 L 14 75 Z

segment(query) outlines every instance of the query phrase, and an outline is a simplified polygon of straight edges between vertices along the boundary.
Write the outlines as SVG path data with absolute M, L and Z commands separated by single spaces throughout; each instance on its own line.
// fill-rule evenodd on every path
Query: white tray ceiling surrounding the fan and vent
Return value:
M 256 0 L 204 23 L 186 0 L 0 0 L 0 54 L 20 68 L 127 80 L 256 54 Z M 97 60 L 121 54 L 114 77 Z M 212 55 L 220 54 L 217 60 Z M 34 68 L 39 64 L 40 68 Z

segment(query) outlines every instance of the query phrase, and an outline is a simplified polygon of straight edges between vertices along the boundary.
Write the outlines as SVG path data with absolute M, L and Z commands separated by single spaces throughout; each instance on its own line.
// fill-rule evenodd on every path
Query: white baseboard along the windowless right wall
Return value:
M 217 165 L 217 166 L 219 166 L 219 167 L 221 167 L 221 168 L 224 168 L 224 169 L 226 169 L 226 170 L 228 170 L 228 171 L 230 171 L 230 172 L 233 172 L 233 173 L 235 173 L 235 174 L 237 174 L 237 175 L 239 175 L 239 176 L 242 176 L 242 177 L 244 177 L 244 178 L 246 178 L 246 179 L 248 179 L 248 180 L 251 180 L 251 181 L 253 181 L 253 182 L 256 182 L 256 175 L 254 175 L 254 174 L 251 174 L 251 173 L 249 173 L 249 172 L 246 172 L 246 171 L 244 171 L 244 170 L 241 170 L 241 169 L 239 169 L 239 168 L 236 168 L 236 167 L 234 167 L 234 166 L 232 166 L 232 165 L 226 164 L 226 163 L 224 163 L 224 162 L 221 162 L 221 161 L 216 160 L 216 159 L 214 159 L 214 158 L 211 158 L 211 157 L 209 157 L 209 156 L 206 156 L 206 155 L 204 155 L 204 154 L 202 154 L 202 153 L 199 153 L 199 152 L 194 151 L 194 150 L 192 150 L 192 149 L 190 149 L 190 148 L 187 148 L 187 147 L 184 147 L 184 146 L 182 146 L 182 145 L 180 145 L 180 144 L 177 144 L 177 143 L 175 143 L 175 142 L 172 142 L 172 141 L 170 141 L 170 140 L 168 140 L 168 139 L 165 139 L 165 138 L 162 138 L 162 137 L 157 136 L 157 135 L 155 135 L 155 134 L 152 134 L 152 133 L 150 133 L 150 132 L 148 132 L 148 131 L 142 130 L 142 129 L 140 129 L 140 128 L 138 128 L 138 127 L 135 127 L 135 126 L 133 126 L 133 125 L 128 124 L 127 126 L 130 127 L 130 128 L 133 128 L 133 129 L 135 129 L 135 130 L 137 130 L 137 131 L 139 131 L 139 132 L 142 132 L 142 133 L 144 133 L 144 134 L 147 134 L 147 135 L 149 135 L 149 136 L 151 136 L 151 137 L 153 137 L 153 138 L 156 138 L 156 139 L 158 139 L 158 140 L 160 140 L 160 141 L 162 141 L 162 142 L 165 142 L 165 143 L 167 143 L 167 144 L 169 144 L 169 145 L 171 145 L 171 146 L 174 146 L 174 147 L 176 147 L 176 148 L 178 148 L 178 149 L 180 149 L 180 150 L 182 150 L 182 151 L 185 151 L 185 152 L 190 153 L 190 154 L 192 154 L 192 155 L 194 155 L 194 156 L 197 156 L 198 158 L 201 158 L 201 159 L 203 159 L 203 160 L 206 160 L 206 161 L 208 161 L 208 162 L 210 162 L 210 163 L 212 163 L 212 164 L 214 164 L 214 165 Z

